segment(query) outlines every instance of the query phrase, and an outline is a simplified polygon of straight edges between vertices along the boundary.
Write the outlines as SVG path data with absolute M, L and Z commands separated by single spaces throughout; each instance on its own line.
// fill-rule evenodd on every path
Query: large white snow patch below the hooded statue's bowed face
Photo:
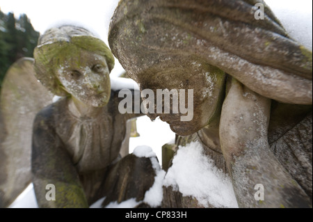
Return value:
M 230 177 L 203 154 L 198 142 L 179 147 L 163 185 L 197 198 L 204 207 L 238 207 Z

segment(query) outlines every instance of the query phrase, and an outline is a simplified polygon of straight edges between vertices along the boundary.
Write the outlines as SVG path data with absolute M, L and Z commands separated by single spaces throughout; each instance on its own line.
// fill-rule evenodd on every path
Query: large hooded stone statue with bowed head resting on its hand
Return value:
M 147 115 L 170 124 L 176 145 L 199 141 L 239 207 L 312 207 L 312 51 L 264 1 L 122 0 L 109 45 L 141 90 L 193 89 L 193 120 Z M 164 187 L 163 207 L 193 206 L 186 198 Z

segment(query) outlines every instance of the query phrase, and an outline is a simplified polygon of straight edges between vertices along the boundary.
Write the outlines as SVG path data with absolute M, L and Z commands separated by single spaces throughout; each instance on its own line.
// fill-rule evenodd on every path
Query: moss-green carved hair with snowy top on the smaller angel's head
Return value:
M 40 36 L 34 50 L 35 75 L 51 93 L 59 96 L 68 94 L 56 77 L 56 68 L 67 58 L 67 51 L 73 53 L 79 52 L 80 49 L 104 56 L 111 72 L 114 67 L 111 50 L 90 31 L 78 26 L 65 25 L 49 29 Z

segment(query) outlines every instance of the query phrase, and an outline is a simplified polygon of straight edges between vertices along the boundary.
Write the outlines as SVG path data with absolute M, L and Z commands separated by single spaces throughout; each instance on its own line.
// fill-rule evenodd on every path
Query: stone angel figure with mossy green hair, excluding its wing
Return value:
M 41 106 L 33 120 L 31 175 L 39 207 L 89 207 L 103 197 L 103 206 L 139 201 L 152 186 L 149 158 L 120 156 L 127 120 L 143 113 L 118 111 L 113 66 L 109 47 L 84 28 L 63 25 L 40 36 L 33 74 L 61 99 Z M 51 186 L 53 199 L 47 198 Z

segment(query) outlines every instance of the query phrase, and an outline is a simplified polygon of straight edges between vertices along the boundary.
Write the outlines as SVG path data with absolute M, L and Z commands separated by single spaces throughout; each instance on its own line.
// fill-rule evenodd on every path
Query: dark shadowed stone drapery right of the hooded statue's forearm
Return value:
M 312 202 L 312 106 L 273 101 L 268 143 Z

